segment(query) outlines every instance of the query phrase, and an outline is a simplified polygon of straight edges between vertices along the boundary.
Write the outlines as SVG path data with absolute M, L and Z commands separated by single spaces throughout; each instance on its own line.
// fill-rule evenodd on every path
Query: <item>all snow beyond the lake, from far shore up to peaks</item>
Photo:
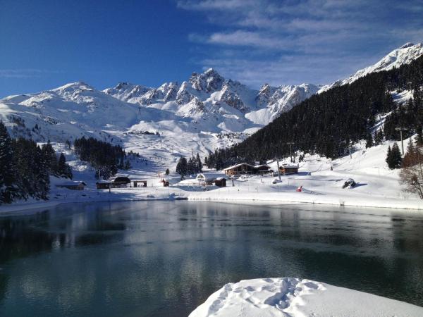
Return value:
M 373 66 L 333 85 L 344 85 L 367 73 L 410 63 L 423 54 L 422 47 L 422 44 L 406 44 Z M 386 150 L 392 142 L 371 149 L 356 144 L 352 158 L 345 156 L 333 162 L 319 156 L 306 156 L 300 163 L 299 175 L 283 176 L 282 182 L 277 184 L 272 184 L 275 176 L 268 175 L 240 178 L 233 184 L 228 182 L 226 188 L 208 187 L 207 190 L 187 184 L 160 186 L 159 180 L 166 168 L 172 172 L 171 184 L 176 185 L 178 175 L 173 171 L 181 155 L 199 153 L 204 159 L 209 151 L 240 142 L 281 112 L 316 93 L 318 88 L 305 84 L 278 88 L 263 85 L 260 91 L 255 91 L 239 82 L 225 80 L 210 69 L 202 74 L 193 73 L 190 80 L 180 85 L 170 82 L 149 88 L 121 83 L 99 91 L 84 82 L 75 82 L 38 94 L 6 97 L 0 100 L 0 120 L 6 123 L 11 135 L 30 137 L 37 142 L 47 142 L 47 139 L 57 142 L 56 151 L 66 154 L 74 179 L 86 182 L 87 189 L 83 192 L 58 189 L 55 185 L 60 180 L 52 179 L 50 201 L 19 202 L 0 206 L 0 211 L 51 205 L 54 201 L 175 197 L 423 209 L 420 199 L 403 192 L 398 170 L 388 170 L 386 166 Z M 412 92 L 407 90 L 391 93 L 398 104 L 412 97 Z M 383 126 L 386 115 L 381 113 L 376 117 L 372 132 Z M 66 140 L 82 136 L 120 144 L 127 152 L 140 154 L 141 159 L 131 162 L 133 168 L 121 172 L 148 180 L 148 187 L 116 189 L 112 193 L 95 189 L 94 170 L 63 146 Z M 276 170 L 276 163 L 272 168 Z M 359 185 L 342 189 L 348 178 Z M 295 192 L 299 186 L 303 187 L 302 192 Z

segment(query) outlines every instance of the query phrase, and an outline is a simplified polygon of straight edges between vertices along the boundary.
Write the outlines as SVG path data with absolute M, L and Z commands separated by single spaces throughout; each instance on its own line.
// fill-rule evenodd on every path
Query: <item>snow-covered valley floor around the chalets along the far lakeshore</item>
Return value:
M 51 179 L 51 194 L 49 201 L 22 201 L 11 206 L 0 206 L 0 211 L 36 208 L 49 206 L 59 202 L 71 201 L 116 201 L 144 199 L 190 199 L 216 201 L 278 201 L 301 202 L 307 204 L 333 204 L 338 206 L 368 206 L 397 209 L 423 209 L 423 200 L 417 195 L 405 192 L 400 185 L 399 170 L 390 170 L 385 162 L 386 151 L 393 142 L 365 149 L 364 142 L 356 144 L 350 156 L 331 161 L 320 156 L 305 155 L 305 160 L 299 163 L 298 175 L 281 175 L 281 182 L 275 182 L 275 175 L 245 175 L 234 180 L 228 180 L 227 187 L 216 187 L 197 184 L 195 175 L 180 182 L 179 175 L 174 173 L 177 157 L 174 159 L 166 154 L 142 156 L 134 159 L 130 170 L 121 173 L 129 174 L 136 180 L 147 180 L 147 187 L 98 190 L 95 187 L 94 170 L 86 163 L 78 161 L 73 151 L 66 149 L 64 144 L 53 144 L 56 151 L 63 151 L 73 168 L 74 180 L 82 180 L 87 184 L 83 191 L 59 189 L 56 184 L 61 182 Z M 405 140 L 407 144 L 407 139 Z M 138 151 L 136 144 L 126 147 Z M 166 156 L 167 155 L 167 156 Z M 281 161 L 280 164 L 288 163 Z M 276 162 L 269 164 L 277 170 Z M 333 166 L 333 170 L 331 170 Z M 164 175 L 166 168 L 171 175 Z M 206 170 L 204 173 L 221 173 L 221 171 Z M 166 178 L 171 186 L 163 187 L 160 180 Z M 354 188 L 343 189 L 348 178 L 357 182 Z M 302 186 L 302 192 L 296 189 Z

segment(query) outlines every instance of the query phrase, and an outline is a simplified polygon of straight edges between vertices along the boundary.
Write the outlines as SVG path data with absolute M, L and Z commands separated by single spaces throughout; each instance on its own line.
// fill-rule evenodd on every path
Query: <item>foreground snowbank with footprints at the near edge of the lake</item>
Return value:
M 423 307 L 312 280 L 230 283 L 190 313 L 203 316 L 423 316 Z

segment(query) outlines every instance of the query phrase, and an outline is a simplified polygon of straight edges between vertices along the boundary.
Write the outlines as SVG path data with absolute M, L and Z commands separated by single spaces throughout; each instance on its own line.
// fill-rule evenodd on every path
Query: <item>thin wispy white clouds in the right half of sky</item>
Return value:
M 254 86 L 331 82 L 423 39 L 419 0 L 185 0 L 178 7 L 211 23 L 212 31 L 189 35 L 207 46 L 198 63 Z

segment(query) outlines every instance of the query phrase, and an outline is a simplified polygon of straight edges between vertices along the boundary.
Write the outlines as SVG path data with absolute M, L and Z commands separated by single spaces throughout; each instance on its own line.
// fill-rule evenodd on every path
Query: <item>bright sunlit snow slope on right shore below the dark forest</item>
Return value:
M 190 199 L 295 201 L 341 206 L 368 206 L 399 209 L 423 209 L 423 201 L 415 194 L 404 192 L 399 170 L 390 170 L 385 162 L 386 152 L 393 142 L 365 149 L 364 142 L 356 144 L 353 154 L 333 160 L 320 156 L 305 156 L 298 175 L 250 176 L 235 180 L 233 185 L 207 192 L 196 192 Z M 407 140 L 405 140 L 407 144 Z M 281 162 L 282 164 L 283 162 Z M 331 170 L 331 165 L 333 170 Z M 277 170 L 276 163 L 270 166 Z M 348 178 L 357 182 L 354 188 L 343 189 Z M 296 189 L 302 186 L 302 192 Z

